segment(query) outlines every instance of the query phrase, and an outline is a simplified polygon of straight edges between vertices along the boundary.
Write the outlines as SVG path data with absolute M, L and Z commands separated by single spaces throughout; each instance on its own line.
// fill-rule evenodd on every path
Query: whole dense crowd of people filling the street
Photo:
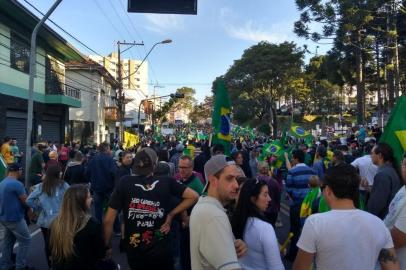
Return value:
M 285 269 L 289 261 L 306 270 L 406 269 L 406 155 L 399 167 L 388 144 L 360 133 L 291 138 L 291 153 L 266 158 L 260 137 L 236 138 L 230 153 L 169 137 L 126 150 L 37 144 L 28 190 L 7 137 L 0 269 L 33 269 L 29 222 L 55 270 L 118 269 L 113 248 L 131 269 Z M 278 217 L 283 201 L 290 224 Z M 290 226 L 287 249 L 280 226 Z

